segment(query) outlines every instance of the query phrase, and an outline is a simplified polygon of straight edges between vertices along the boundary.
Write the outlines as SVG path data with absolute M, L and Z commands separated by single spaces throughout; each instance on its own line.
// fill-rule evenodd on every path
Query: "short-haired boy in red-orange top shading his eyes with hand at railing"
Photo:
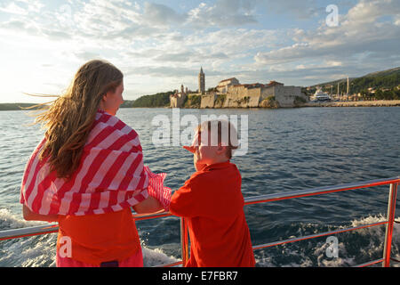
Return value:
M 196 173 L 173 193 L 170 212 L 188 218 L 190 258 L 185 266 L 254 266 L 242 178 L 229 161 L 237 148 L 235 127 L 223 120 L 204 122 L 192 146 L 184 148 L 194 154 Z

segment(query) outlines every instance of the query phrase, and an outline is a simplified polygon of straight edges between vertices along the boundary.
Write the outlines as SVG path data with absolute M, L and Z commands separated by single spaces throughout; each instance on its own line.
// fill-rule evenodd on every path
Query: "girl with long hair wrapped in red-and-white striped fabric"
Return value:
M 36 118 L 45 134 L 28 159 L 20 203 L 26 220 L 59 223 L 57 266 L 143 266 L 131 208 L 168 210 L 165 174 L 143 165 L 139 135 L 116 118 L 123 92 L 119 69 L 89 61 Z

